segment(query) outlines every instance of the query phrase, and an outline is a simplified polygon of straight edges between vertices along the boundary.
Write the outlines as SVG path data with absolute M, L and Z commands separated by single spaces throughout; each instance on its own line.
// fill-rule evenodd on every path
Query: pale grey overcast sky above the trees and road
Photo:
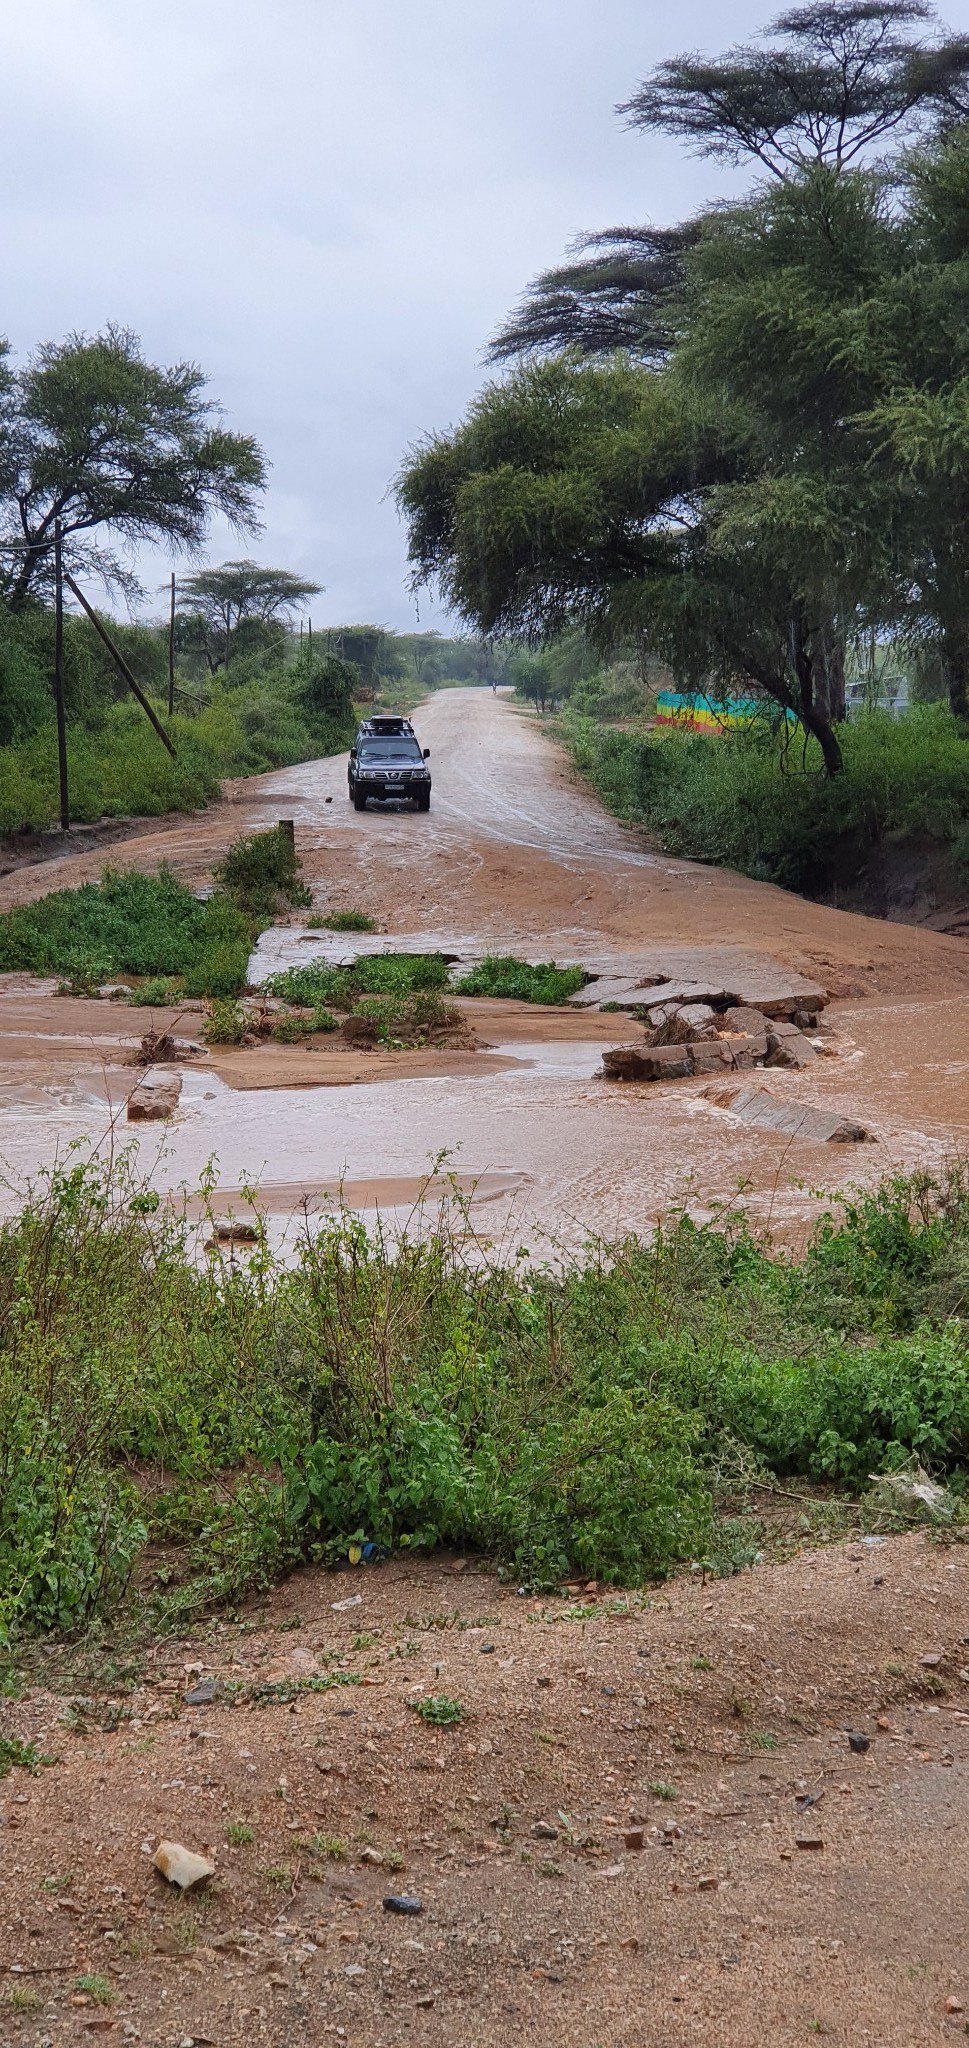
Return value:
M 387 485 L 455 422 L 526 281 L 582 229 L 670 221 L 725 172 L 623 127 L 678 49 L 770 0 L 8 0 L 6 330 L 135 328 L 272 463 L 264 532 L 315 621 L 414 625 Z M 969 0 L 946 10 L 969 27 Z M 156 586 L 168 563 L 143 561 Z M 156 600 L 154 600 L 156 602 Z M 422 623 L 440 623 L 422 600 Z

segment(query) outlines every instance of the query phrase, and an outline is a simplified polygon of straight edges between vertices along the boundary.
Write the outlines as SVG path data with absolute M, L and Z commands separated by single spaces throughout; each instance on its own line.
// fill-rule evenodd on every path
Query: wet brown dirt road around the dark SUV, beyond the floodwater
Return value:
M 541 725 L 490 690 L 440 690 L 414 715 L 430 748 L 428 817 L 346 801 L 346 758 L 227 784 L 225 803 L 150 829 L 109 858 L 191 883 L 240 831 L 297 823 L 320 903 L 369 909 L 389 932 L 481 946 L 623 954 L 645 942 L 748 946 L 848 993 L 969 991 L 969 946 L 805 903 L 768 883 L 670 860 L 576 784 Z M 0 909 L 98 877 L 82 852 L 0 881 Z

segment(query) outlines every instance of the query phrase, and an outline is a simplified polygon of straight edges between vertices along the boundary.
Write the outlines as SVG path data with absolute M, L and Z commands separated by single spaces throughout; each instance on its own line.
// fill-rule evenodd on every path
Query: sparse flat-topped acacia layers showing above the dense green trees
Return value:
M 905 33 L 934 18 L 928 0 L 809 0 L 781 14 L 760 45 L 668 57 L 619 113 L 631 127 L 680 135 L 701 156 L 750 162 L 778 182 L 811 168 L 842 172 L 969 111 L 969 37 Z M 494 336 L 492 360 L 565 348 L 664 360 L 699 236 L 699 221 L 584 236 L 578 260 L 529 287 Z

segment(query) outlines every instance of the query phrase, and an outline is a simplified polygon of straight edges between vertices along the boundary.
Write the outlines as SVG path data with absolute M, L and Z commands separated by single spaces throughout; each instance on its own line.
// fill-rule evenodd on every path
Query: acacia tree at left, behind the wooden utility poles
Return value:
M 0 592 L 45 590 L 59 524 L 68 567 L 137 592 L 109 541 L 195 553 L 209 520 L 256 532 L 266 459 L 231 434 L 195 362 L 145 362 L 127 328 L 45 342 L 23 371 L 0 365 Z

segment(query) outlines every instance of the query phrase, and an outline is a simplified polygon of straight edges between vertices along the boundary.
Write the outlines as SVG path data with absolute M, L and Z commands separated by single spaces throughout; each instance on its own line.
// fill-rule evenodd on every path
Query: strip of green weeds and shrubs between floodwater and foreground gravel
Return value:
M 869 1475 L 910 1458 L 961 1518 L 963 1167 L 846 1204 L 799 1266 L 678 1214 L 535 1270 L 488 1253 L 457 1186 L 404 1241 L 340 1208 L 295 1266 L 256 1208 L 244 1239 L 201 1257 L 123 1159 L 53 1169 L 2 1227 L 4 1632 L 131 1587 L 178 1626 L 369 1546 L 467 1544 L 539 1587 L 733 1571 L 758 1487 L 897 1526 Z

